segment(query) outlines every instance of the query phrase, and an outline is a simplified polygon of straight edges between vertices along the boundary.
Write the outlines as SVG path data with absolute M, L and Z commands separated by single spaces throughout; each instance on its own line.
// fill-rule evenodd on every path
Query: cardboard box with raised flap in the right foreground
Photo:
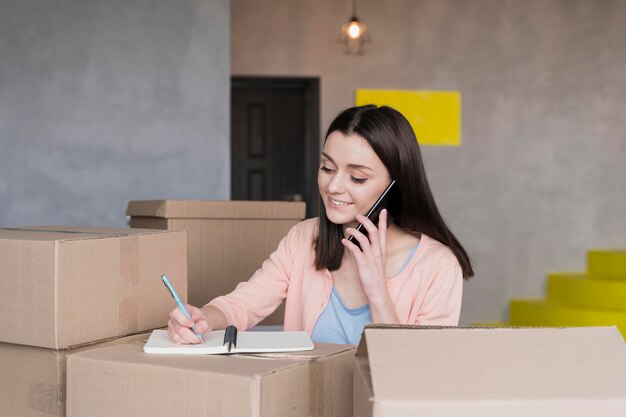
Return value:
M 623 417 L 625 347 L 614 327 L 366 327 L 354 417 Z

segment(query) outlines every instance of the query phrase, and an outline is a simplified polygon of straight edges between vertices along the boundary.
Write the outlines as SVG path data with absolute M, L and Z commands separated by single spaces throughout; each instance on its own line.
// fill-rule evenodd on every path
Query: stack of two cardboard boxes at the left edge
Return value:
M 184 231 L 0 229 L 0 414 L 64 416 L 66 357 L 166 325 L 186 254 Z

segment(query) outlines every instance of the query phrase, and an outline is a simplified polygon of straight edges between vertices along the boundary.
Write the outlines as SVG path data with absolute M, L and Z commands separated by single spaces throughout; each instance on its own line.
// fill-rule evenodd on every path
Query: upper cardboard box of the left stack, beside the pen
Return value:
M 63 349 L 167 325 L 187 294 L 186 233 L 0 229 L 0 342 Z

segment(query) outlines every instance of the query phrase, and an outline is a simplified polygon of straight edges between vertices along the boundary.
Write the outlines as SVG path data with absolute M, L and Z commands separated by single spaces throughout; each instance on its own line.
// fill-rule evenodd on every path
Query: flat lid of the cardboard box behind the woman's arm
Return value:
M 128 216 L 167 219 L 303 219 L 306 204 L 291 201 L 143 200 L 130 201 Z

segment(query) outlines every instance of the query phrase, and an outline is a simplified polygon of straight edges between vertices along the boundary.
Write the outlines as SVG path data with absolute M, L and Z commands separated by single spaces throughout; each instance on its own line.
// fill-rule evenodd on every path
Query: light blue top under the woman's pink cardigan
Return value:
M 407 266 L 418 244 L 411 249 L 398 274 Z M 372 313 L 369 304 L 357 308 L 346 307 L 333 285 L 328 304 L 313 327 L 311 340 L 313 342 L 356 345 L 361 339 L 365 324 L 371 323 L 371 321 Z

